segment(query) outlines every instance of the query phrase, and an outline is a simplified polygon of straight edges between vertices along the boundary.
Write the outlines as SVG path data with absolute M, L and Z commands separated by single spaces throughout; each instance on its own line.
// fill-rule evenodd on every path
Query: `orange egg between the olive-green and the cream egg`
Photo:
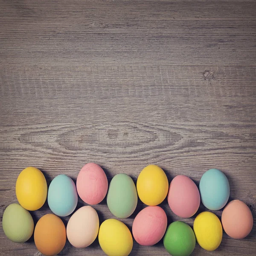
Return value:
M 35 246 L 45 256 L 61 252 L 66 243 L 66 228 L 61 219 L 54 214 L 41 217 L 35 226 Z

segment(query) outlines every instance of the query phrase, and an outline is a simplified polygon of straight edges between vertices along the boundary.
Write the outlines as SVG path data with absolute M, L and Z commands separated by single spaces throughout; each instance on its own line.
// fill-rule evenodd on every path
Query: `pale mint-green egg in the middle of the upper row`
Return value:
M 130 176 L 119 173 L 109 184 L 107 204 L 117 218 L 128 218 L 136 209 L 137 190 Z

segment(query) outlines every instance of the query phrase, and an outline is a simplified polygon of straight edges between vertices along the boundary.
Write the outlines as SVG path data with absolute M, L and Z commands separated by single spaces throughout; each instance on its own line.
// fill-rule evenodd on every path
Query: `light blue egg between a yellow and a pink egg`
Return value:
M 67 175 L 55 177 L 48 189 L 48 205 L 53 213 L 64 217 L 70 215 L 78 201 L 76 185 Z

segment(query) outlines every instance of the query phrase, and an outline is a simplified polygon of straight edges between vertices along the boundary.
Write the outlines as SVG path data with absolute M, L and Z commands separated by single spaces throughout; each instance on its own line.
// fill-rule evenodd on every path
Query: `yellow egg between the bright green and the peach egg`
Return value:
M 216 250 L 221 244 L 221 221 L 212 212 L 201 212 L 195 218 L 194 232 L 198 244 L 205 250 Z

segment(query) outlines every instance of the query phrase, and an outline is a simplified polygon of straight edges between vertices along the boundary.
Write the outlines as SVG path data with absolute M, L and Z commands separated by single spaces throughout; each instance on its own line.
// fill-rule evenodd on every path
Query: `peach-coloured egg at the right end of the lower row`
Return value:
M 240 200 L 227 204 L 221 215 L 221 222 L 227 235 L 242 239 L 253 229 L 253 215 L 249 207 Z

